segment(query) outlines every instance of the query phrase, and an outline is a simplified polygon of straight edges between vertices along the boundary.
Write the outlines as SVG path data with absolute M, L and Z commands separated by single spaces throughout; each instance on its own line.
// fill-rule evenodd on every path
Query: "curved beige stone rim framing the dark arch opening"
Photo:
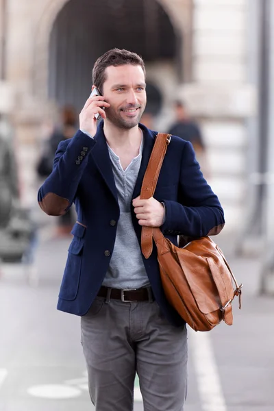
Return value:
M 36 32 L 34 46 L 34 72 L 33 72 L 33 92 L 42 101 L 47 101 L 47 85 L 49 80 L 49 42 L 51 29 L 58 14 L 66 3 L 71 0 L 47 0 L 45 9 L 42 12 L 38 29 Z M 183 38 L 183 45 L 179 45 L 177 50 L 179 64 L 184 73 L 183 81 L 189 82 L 192 77 L 192 12 L 193 1 L 181 0 L 155 0 L 168 14 L 173 24 L 175 33 Z M 184 48 L 184 59 L 182 59 L 182 48 Z

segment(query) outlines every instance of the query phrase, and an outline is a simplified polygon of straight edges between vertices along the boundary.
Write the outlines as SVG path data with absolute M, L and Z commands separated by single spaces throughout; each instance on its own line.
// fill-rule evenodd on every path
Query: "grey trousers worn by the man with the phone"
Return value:
M 138 373 L 145 411 L 183 411 L 186 327 L 174 327 L 153 301 L 96 297 L 82 316 L 82 345 L 96 411 L 131 411 Z

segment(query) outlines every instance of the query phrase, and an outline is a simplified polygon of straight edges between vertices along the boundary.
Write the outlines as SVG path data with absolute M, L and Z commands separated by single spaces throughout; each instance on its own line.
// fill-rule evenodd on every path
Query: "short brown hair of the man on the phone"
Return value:
M 112 49 L 101 55 L 95 62 L 92 71 L 92 82 L 103 92 L 103 84 L 106 80 L 105 69 L 109 66 L 122 66 L 123 64 L 133 64 L 134 66 L 141 66 L 142 71 L 145 72 L 145 63 L 140 55 L 132 53 L 132 51 Z

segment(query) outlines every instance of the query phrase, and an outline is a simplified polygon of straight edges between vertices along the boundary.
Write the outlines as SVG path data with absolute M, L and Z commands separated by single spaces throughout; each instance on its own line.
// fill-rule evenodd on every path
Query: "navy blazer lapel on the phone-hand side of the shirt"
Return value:
M 108 153 L 108 145 L 105 140 L 105 135 L 103 134 L 103 121 L 99 123 L 97 134 L 95 135 L 95 140 L 97 141 L 94 149 L 91 151 L 92 158 L 97 164 L 97 167 L 105 180 L 105 183 L 110 188 L 112 195 L 118 203 L 117 190 L 114 181 L 114 175 L 112 171 L 112 164 L 110 161 L 110 155 Z

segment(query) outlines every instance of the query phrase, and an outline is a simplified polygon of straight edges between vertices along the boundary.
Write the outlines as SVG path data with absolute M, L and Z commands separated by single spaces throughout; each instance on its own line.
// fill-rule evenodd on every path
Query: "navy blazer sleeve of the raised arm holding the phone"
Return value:
M 60 216 L 69 210 L 95 144 L 96 140 L 81 131 L 71 140 L 60 142 L 53 171 L 38 191 L 38 203 L 46 214 Z

